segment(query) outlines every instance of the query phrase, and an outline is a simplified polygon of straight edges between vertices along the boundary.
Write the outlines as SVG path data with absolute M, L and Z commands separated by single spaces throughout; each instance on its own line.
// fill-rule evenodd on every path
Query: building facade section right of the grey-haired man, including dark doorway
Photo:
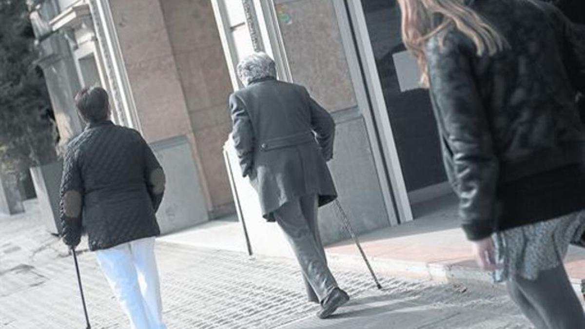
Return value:
M 401 41 L 397 1 L 212 2 L 234 88 L 235 64 L 262 50 L 276 60 L 281 80 L 305 85 L 331 111 L 337 140 L 330 167 L 359 232 L 454 202 L 428 91 Z M 325 241 L 344 235 L 332 208 L 321 217 Z

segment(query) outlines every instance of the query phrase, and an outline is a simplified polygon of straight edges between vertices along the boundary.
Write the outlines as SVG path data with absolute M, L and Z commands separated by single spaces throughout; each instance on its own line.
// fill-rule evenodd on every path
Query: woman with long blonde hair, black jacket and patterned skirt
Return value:
M 537 328 L 585 328 L 563 267 L 585 232 L 585 30 L 535 0 L 398 0 L 482 269 Z

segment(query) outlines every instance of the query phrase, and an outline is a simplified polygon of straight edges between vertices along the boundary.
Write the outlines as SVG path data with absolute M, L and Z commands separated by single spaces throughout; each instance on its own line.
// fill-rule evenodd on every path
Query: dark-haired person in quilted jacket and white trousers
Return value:
M 61 180 L 63 241 L 89 238 L 99 266 L 133 329 L 166 328 L 154 237 L 164 172 L 140 133 L 109 121 L 108 93 L 84 88 L 75 97 L 88 124 L 68 146 Z

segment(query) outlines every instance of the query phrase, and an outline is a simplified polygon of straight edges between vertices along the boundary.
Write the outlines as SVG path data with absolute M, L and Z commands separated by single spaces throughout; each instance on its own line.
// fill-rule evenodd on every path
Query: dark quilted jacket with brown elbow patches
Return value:
M 86 231 L 92 251 L 160 234 L 164 173 L 140 133 L 91 124 L 69 145 L 61 180 L 63 240 Z

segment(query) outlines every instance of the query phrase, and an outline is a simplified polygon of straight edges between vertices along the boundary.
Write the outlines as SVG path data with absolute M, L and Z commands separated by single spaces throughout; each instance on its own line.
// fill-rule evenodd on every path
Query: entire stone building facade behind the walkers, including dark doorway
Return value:
M 61 139 L 82 129 L 75 92 L 108 89 L 114 121 L 142 132 L 163 159 L 173 186 L 161 215 L 168 227 L 235 211 L 222 158 L 226 100 L 241 87 L 236 64 L 258 50 L 335 119 L 331 170 L 357 231 L 411 221 L 417 205 L 448 193 L 394 0 L 44 0 L 32 8 Z M 347 236 L 332 208 L 322 217 L 325 241 Z

